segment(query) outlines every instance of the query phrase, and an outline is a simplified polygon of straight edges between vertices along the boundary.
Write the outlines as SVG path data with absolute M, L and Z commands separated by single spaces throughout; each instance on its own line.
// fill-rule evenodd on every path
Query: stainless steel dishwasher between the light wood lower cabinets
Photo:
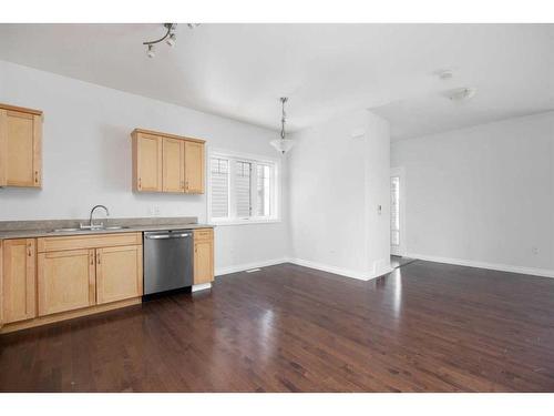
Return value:
M 191 230 L 145 232 L 143 247 L 145 295 L 193 285 Z

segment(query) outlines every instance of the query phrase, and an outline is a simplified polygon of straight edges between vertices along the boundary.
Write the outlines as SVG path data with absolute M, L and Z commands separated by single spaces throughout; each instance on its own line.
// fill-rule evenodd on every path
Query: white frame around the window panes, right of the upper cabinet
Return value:
M 276 158 L 268 158 L 256 154 L 248 154 L 242 152 L 234 152 L 224 149 L 208 149 L 207 151 L 207 212 L 206 217 L 208 224 L 213 225 L 244 225 L 244 224 L 266 224 L 266 223 L 277 223 L 281 221 L 281 177 L 280 177 L 280 160 Z M 224 159 L 229 161 L 229 181 L 228 181 L 228 217 L 212 217 L 212 159 Z M 236 207 L 236 162 L 250 163 L 250 216 L 238 217 Z M 270 195 L 270 207 L 269 216 L 258 216 L 258 192 L 257 192 L 257 166 L 269 165 L 273 169 L 273 177 L 270 179 L 270 184 L 273 184 L 271 195 Z

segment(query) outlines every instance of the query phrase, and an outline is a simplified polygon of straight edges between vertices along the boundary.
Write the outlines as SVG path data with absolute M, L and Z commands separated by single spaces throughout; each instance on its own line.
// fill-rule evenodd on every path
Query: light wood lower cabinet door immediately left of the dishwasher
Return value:
M 96 250 L 96 303 L 138 297 L 142 288 L 142 246 Z

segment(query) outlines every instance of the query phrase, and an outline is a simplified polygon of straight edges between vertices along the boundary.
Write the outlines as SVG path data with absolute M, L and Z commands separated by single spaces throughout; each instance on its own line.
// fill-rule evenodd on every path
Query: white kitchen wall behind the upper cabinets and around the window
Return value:
M 205 222 L 205 195 L 131 191 L 134 128 L 276 156 L 269 145 L 277 135 L 273 131 L 4 61 L 0 61 L 0 102 L 44 111 L 43 189 L 1 189 L 0 221 L 82 219 L 102 203 L 114 217 L 153 216 L 152 209 L 157 207 L 158 216 L 198 216 Z M 283 194 L 286 197 L 286 190 Z M 285 224 L 217 227 L 216 268 L 230 271 L 285 257 Z

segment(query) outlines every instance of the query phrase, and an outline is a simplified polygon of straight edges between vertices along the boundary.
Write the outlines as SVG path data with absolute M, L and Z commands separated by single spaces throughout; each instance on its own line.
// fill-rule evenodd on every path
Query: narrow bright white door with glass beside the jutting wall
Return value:
M 399 256 L 406 255 L 404 187 L 403 169 L 392 169 L 390 173 L 390 253 Z

